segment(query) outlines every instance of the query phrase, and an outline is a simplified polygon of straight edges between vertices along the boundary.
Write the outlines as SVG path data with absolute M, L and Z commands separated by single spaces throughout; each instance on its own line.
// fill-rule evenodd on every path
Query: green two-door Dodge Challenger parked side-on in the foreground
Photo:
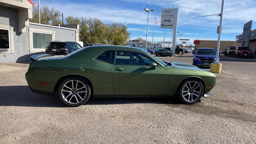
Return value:
M 33 92 L 57 93 L 69 106 L 90 96 L 170 97 L 198 102 L 214 87 L 211 72 L 190 64 L 163 62 L 138 48 L 89 46 L 66 56 L 34 55 L 26 73 Z

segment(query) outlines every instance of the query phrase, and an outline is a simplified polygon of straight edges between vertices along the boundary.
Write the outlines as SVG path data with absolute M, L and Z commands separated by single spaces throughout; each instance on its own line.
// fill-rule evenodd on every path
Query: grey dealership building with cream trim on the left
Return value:
M 49 42 L 79 40 L 79 25 L 51 26 L 29 22 L 30 0 L 0 0 L 0 62 L 27 62 L 45 51 Z

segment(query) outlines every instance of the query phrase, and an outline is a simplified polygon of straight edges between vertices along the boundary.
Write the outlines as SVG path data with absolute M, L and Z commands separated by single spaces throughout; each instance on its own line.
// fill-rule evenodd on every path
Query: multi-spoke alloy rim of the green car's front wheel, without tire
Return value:
M 194 102 L 202 95 L 202 86 L 199 82 L 189 81 L 182 88 L 182 97 L 187 102 Z

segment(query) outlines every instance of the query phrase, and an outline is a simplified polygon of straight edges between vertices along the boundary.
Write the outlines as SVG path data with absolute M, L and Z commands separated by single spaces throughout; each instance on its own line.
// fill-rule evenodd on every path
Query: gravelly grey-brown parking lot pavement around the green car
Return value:
M 27 63 L 0 64 L 0 143 L 256 143 L 256 59 L 220 58 L 212 97 L 192 105 L 98 98 L 70 108 L 31 92 Z

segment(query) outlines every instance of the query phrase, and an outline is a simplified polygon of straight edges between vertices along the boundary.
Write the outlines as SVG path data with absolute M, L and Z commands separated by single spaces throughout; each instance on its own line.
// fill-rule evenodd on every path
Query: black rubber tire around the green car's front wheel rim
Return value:
M 190 82 L 192 88 L 193 88 L 194 84 L 197 83 L 198 84 L 198 87 L 196 88 L 197 91 L 200 88 L 200 94 L 196 93 L 196 95 L 198 95 L 198 97 L 194 95 L 196 97 L 196 99 L 192 99 L 193 98 L 193 94 L 192 94 L 191 101 L 186 99 L 186 98 L 190 99 L 190 97 L 182 95 L 182 90 L 186 87 L 185 85 L 188 84 L 188 82 Z M 201 99 L 201 97 L 203 96 L 203 94 L 204 94 L 204 86 L 203 86 L 202 82 L 198 79 L 193 79 L 193 78 L 182 82 L 182 84 L 180 84 L 180 87 L 178 88 L 178 91 L 177 91 L 178 100 L 180 100 L 180 102 L 182 102 L 184 104 L 194 104 L 194 103 L 198 102 Z M 186 95 L 186 92 L 184 92 L 184 95 Z

